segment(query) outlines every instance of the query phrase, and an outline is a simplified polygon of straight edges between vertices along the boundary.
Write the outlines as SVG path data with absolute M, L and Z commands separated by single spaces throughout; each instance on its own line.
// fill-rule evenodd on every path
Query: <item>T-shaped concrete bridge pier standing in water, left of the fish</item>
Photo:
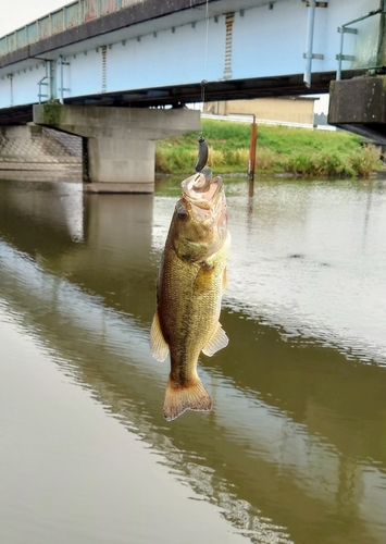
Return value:
M 152 193 L 155 141 L 199 131 L 200 112 L 45 103 L 34 123 L 86 138 L 85 191 Z

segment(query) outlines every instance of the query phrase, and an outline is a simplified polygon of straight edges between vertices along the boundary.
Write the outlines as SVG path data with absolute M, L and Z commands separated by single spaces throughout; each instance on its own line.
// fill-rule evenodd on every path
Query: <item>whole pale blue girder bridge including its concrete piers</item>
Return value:
M 0 125 L 84 138 L 90 190 L 152 190 L 154 141 L 202 100 L 331 91 L 386 141 L 386 0 L 76 0 L 0 38 Z M 139 185 L 138 185 L 139 184 Z

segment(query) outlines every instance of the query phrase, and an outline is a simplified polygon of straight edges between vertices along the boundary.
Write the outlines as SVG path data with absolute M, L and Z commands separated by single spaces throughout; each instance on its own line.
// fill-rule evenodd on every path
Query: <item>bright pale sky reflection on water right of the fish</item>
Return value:
M 376 206 L 365 228 L 373 191 Z M 248 222 L 240 197 L 238 203 L 232 211 L 237 269 L 231 263 L 229 306 L 233 299 L 287 333 L 385 361 L 384 183 L 276 182 L 274 190 L 261 183 Z

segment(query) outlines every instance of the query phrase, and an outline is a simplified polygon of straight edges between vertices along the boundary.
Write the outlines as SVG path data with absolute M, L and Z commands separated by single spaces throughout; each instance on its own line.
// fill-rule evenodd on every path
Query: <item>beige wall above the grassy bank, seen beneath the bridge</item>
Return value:
M 313 124 L 313 98 L 258 98 L 256 100 L 229 100 L 208 102 L 206 113 L 217 115 L 254 114 L 257 119 Z

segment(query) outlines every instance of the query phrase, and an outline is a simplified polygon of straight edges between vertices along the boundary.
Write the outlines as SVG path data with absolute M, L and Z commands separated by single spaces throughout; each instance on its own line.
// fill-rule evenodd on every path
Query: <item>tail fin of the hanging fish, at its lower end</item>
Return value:
M 212 399 L 198 376 L 184 385 L 169 378 L 163 404 L 163 415 L 167 421 L 173 421 L 186 410 L 210 411 L 211 409 Z

